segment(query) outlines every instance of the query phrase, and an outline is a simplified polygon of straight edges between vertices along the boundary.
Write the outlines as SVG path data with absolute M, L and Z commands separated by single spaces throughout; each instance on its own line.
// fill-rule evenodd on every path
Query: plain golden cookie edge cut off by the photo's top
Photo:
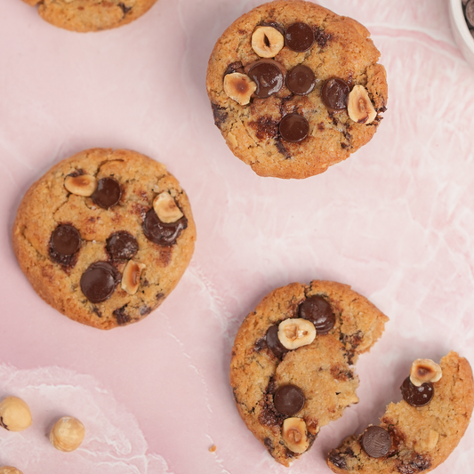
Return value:
M 86 33 L 117 28 L 141 17 L 157 0 L 23 0 L 55 27 Z

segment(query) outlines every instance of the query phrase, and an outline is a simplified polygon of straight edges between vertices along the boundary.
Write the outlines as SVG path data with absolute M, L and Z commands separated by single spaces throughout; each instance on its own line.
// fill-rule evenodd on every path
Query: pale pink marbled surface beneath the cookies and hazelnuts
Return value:
M 474 362 L 474 71 L 454 44 L 447 1 L 321 3 L 371 30 L 389 110 L 347 162 L 278 181 L 231 155 L 205 93 L 213 43 L 257 0 L 160 0 L 132 25 L 89 35 L 2 0 L 0 397 L 27 399 L 35 422 L 0 430 L 0 465 L 24 474 L 330 472 L 324 454 L 399 399 L 414 358 L 455 349 Z M 31 183 L 90 147 L 136 149 L 168 165 L 198 230 L 174 293 L 139 325 L 109 333 L 41 301 L 10 240 Z M 286 470 L 237 414 L 229 353 L 263 295 L 312 278 L 349 283 L 390 323 L 359 360 L 358 406 Z M 72 454 L 44 438 L 62 414 L 87 429 Z M 471 425 L 436 472 L 470 472 L 473 462 Z

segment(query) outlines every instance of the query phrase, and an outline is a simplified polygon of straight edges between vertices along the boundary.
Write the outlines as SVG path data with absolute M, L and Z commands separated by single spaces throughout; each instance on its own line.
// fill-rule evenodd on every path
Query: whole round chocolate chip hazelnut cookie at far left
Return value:
M 164 193 L 166 210 L 179 211 L 174 218 L 157 205 Z M 188 197 L 165 165 L 125 149 L 89 149 L 28 189 L 12 238 L 44 301 L 75 321 L 111 329 L 140 321 L 171 293 L 196 229 Z

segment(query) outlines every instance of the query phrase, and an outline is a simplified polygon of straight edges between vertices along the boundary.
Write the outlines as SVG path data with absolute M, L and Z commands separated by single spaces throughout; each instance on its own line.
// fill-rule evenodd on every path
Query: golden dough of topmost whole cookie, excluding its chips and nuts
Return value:
M 307 95 L 294 95 L 284 85 L 268 99 L 253 98 L 240 105 L 224 92 L 223 78 L 238 67 L 261 60 L 253 51 L 253 31 L 273 24 L 284 31 L 294 22 L 313 28 L 315 43 L 306 52 L 287 46 L 273 60 L 287 71 L 298 65 L 316 75 L 316 86 Z M 373 137 L 385 111 L 388 89 L 380 52 L 368 30 L 355 20 L 302 0 L 277 0 L 263 4 L 237 19 L 215 44 L 207 69 L 207 92 L 229 149 L 261 176 L 307 178 L 323 173 L 365 145 Z M 377 116 L 369 125 L 351 120 L 347 110 L 329 113 L 321 100 L 326 79 L 339 77 L 350 87 L 366 87 Z M 282 140 L 278 125 L 283 116 L 298 113 L 309 122 L 309 136 L 301 142 Z

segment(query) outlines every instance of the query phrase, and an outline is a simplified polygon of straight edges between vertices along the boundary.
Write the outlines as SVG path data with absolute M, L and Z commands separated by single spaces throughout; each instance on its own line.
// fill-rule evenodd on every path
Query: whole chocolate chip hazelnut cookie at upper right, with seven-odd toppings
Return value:
M 323 173 L 370 141 L 380 124 L 388 92 L 379 57 L 355 20 L 302 0 L 262 4 L 213 49 L 206 85 L 215 125 L 261 176 Z M 356 85 L 366 96 L 351 101 L 349 116 Z M 360 104 L 371 108 L 370 118 Z M 282 125 L 290 115 L 293 123 Z

